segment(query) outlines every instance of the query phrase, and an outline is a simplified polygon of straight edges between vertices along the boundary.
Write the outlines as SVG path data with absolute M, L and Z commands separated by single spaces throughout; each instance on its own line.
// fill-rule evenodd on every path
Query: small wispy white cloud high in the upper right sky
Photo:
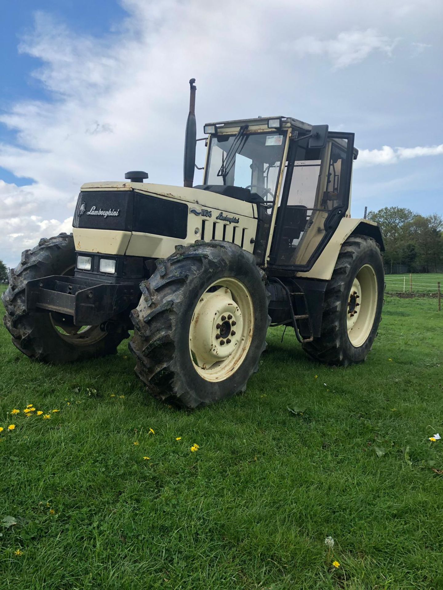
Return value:
M 365 60 L 373 51 L 381 51 L 388 57 L 392 55 L 396 40 L 381 35 L 375 29 L 366 31 L 344 31 L 335 39 L 320 40 L 317 37 L 299 37 L 294 41 L 286 42 L 284 50 L 303 57 L 304 55 L 327 55 L 336 69 L 357 64 Z

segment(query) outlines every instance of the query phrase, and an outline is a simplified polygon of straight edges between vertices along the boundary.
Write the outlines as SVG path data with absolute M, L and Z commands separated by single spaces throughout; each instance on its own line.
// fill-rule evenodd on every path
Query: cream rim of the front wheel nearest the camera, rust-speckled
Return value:
M 252 297 L 237 278 L 212 283 L 194 309 L 189 350 L 194 368 L 206 381 L 224 381 L 245 360 L 252 341 Z

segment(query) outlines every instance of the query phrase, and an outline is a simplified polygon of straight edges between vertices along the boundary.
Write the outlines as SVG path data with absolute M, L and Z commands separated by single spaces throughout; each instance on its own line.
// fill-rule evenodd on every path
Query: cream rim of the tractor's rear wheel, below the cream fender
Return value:
M 377 277 L 370 264 L 356 274 L 348 295 L 347 331 L 351 345 L 359 348 L 370 335 L 377 312 Z

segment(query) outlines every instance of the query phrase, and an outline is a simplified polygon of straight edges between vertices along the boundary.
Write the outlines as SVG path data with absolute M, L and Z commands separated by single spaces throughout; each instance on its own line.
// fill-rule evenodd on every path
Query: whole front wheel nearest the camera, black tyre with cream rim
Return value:
M 271 321 L 264 278 L 253 255 L 229 242 L 157 261 L 141 284 L 129 343 L 152 395 L 196 408 L 245 391 Z

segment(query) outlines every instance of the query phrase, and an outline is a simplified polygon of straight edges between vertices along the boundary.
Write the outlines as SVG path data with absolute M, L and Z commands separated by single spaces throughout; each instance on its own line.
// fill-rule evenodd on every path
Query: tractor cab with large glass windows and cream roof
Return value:
M 209 123 L 203 185 L 257 207 L 263 266 L 308 270 L 349 216 L 353 133 L 291 117 Z

